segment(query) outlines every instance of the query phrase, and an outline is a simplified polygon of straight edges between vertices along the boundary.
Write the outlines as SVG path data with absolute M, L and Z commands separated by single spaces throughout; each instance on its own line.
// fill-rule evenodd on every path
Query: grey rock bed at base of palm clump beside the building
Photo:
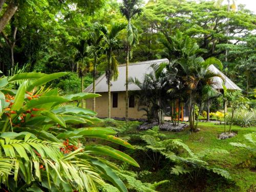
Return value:
M 158 124 L 157 122 L 153 123 L 143 123 L 139 126 L 139 130 L 148 130 L 151 129 L 153 126 L 159 126 L 161 131 L 173 131 L 173 132 L 181 132 L 187 127 L 188 125 L 185 123 L 180 123 L 179 126 L 174 126 L 172 122 L 165 121 L 163 124 Z

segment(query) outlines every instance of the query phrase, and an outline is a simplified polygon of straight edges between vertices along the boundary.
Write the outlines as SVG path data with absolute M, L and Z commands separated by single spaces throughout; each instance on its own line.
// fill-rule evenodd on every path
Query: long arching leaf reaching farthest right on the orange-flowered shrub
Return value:
M 140 167 L 140 165 L 132 157 L 130 157 L 129 155 L 126 155 L 123 152 L 115 150 L 114 148 L 109 146 L 91 144 L 84 147 L 84 150 L 86 150 L 86 153 L 96 153 L 100 155 L 107 155 L 115 159 L 118 159 L 120 161 L 129 163 L 133 166 Z

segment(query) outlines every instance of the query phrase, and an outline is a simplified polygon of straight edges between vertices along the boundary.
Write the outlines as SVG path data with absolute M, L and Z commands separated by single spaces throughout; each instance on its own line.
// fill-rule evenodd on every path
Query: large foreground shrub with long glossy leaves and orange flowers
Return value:
M 139 167 L 130 156 L 105 145 L 86 144 L 99 138 L 133 148 L 111 128 L 84 127 L 100 121 L 96 113 L 69 105 L 99 96 L 79 93 L 61 96 L 45 83 L 67 73 L 20 73 L 0 79 L 0 182 L 9 191 L 98 191 L 108 181 L 127 191 L 113 169 L 97 155 L 110 156 Z M 19 82 L 18 90 L 12 89 Z

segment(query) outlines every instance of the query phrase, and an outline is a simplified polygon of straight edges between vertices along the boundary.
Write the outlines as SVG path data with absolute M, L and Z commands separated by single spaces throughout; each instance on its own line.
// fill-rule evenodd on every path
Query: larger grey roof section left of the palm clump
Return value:
M 144 74 L 148 73 L 149 67 L 153 63 L 161 63 L 161 62 L 169 62 L 168 59 L 157 59 L 157 60 L 150 60 L 150 61 L 142 61 L 142 62 L 135 62 L 130 63 L 129 65 L 129 77 L 138 78 L 139 80 L 143 80 Z M 125 64 L 119 65 L 118 67 L 118 79 L 116 81 L 111 81 L 111 91 L 125 91 Z M 105 73 L 101 75 L 98 79 L 95 81 L 95 90 L 96 93 L 100 92 L 108 92 L 108 84 L 106 83 L 106 77 Z M 134 84 L 129 84 L 129 90 L 139 90 L 139 88 Z M 89 87 L 87 87 L 84 92 L 93 92 L 93 84 L 90 84 Z

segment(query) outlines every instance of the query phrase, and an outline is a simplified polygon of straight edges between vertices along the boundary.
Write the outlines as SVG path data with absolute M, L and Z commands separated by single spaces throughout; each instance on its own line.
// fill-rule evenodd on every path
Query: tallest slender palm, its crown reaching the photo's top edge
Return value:
M 142 12 L 140 0 L 122 0 L 120 11 L 127 19 L 127 46 L 126 46 L 126 76 L 125 76 L 125 120 L 128 120 L 128 68 L 130 49 L 138 43 L 138 31 L 132 24 L 132 19 Z

